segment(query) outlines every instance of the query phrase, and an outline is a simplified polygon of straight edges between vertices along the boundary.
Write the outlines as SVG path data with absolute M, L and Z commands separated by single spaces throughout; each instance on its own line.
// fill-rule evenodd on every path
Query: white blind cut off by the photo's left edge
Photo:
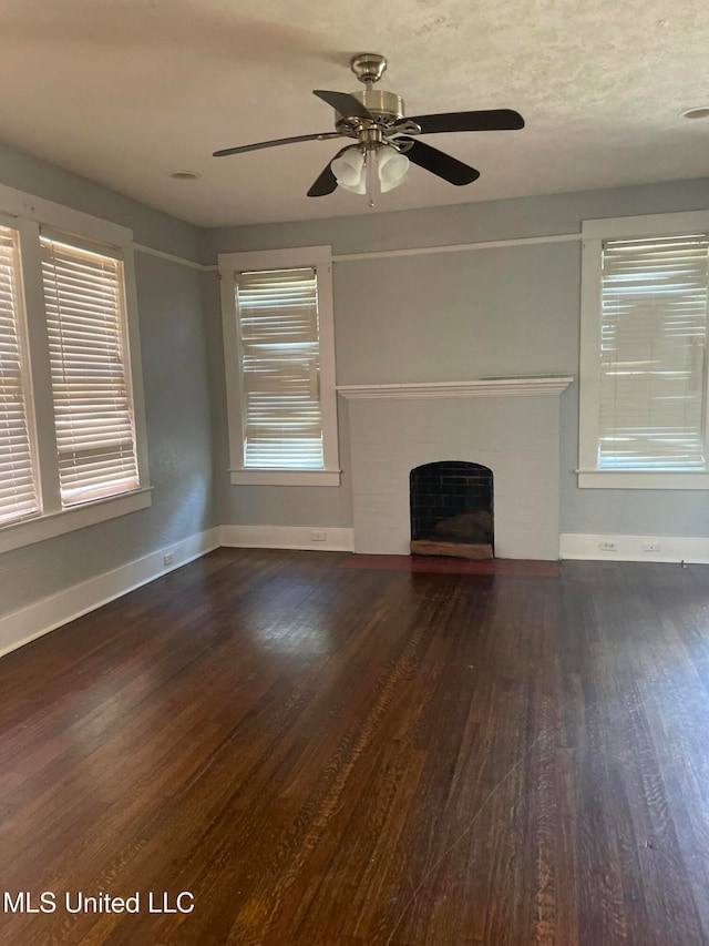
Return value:
M 0 226 L 0 526 L 39 512 L 17 231 Z

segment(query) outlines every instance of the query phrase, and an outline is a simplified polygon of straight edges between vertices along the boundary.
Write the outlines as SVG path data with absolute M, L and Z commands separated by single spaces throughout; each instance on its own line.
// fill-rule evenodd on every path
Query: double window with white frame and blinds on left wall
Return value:
M 7 187 L 1 205 L 4 551 L 145 508 L 150 491 L 130 231 Z

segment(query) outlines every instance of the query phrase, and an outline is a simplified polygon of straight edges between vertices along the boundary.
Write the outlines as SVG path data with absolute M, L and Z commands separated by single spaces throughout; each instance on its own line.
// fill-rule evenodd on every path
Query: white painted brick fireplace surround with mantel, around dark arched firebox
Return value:
M 559 398 L 571 377 L 338 387 L 350 410 L 354 551 L 408 555 L 409 474 L 489 467 L 495 556 L 558 558 Z

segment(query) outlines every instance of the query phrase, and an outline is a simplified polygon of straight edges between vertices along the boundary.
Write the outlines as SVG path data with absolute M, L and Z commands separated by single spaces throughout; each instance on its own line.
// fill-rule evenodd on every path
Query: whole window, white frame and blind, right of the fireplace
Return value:
M 584 224 L 579 486 L 709 489 L 709 213 Z

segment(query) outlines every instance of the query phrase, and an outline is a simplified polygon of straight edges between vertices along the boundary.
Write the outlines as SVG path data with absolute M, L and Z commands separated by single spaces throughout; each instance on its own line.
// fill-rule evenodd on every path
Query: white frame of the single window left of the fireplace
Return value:
M 236 306 L 236 275 L 246 271 L 311 267 L 318 279 L 320 348 L 320 410 L 322 416 L 322 469 L 284 470 L 244 466 L 244 419 L 242 407 L 242 350 Z M 335 368 L 335 318 L 332 306 L 332 247 L 299 246 L 288 250 L 257 250 L 220 253 L 224 364 L 229 435 L 229 478 L 233 486 L 339 486 L 340 465 L 337 426 Z

